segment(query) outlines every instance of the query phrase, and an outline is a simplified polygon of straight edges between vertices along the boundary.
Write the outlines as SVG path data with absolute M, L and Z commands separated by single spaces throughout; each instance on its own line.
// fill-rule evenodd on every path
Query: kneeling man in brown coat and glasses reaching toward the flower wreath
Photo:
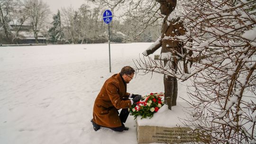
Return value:
M 132 67 L 125 66 L 120 73 L 112 75 L 103 84 L 93 107 L 91 122 L 95 131 L 101 126 L 119 132 L 128 130 L 128 127 L 123 124 L 129 115 L 128 108 L 141 99 L 141 95 L 126 92 L 127 83 L 133 79 L 134 72 Z M 119 114 L 118 110 L 121 108 Z

